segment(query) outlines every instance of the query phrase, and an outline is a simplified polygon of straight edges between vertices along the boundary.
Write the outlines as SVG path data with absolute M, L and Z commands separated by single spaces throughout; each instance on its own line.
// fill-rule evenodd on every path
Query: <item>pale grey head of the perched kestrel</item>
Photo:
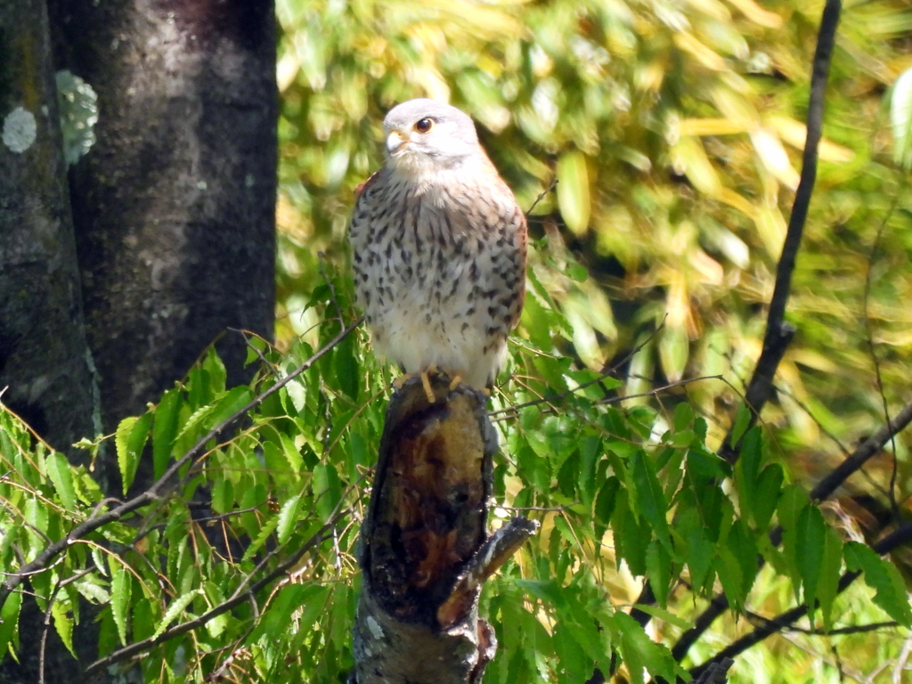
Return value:
M 387 163 L 409 175 L 453 169 L 484 157 L 472 119 L 459 109 L 432 99 L 409 99 L 383 119 Z

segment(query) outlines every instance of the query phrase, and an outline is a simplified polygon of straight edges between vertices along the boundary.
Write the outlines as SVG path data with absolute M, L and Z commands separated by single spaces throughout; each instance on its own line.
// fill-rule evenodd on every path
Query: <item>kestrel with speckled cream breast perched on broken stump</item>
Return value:
M 412 99 L 383 132 L 386 164 L 348 233 L 374 348 L 406 373 L 489 388 L 523 310 L 525 215 L 459 109 Z

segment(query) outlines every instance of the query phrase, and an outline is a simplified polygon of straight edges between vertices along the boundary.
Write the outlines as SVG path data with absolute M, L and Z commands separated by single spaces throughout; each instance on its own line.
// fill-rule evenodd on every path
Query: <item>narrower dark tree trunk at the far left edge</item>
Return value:
M 71 458 L 93 436 L 44 0 L 0 3 L 0 401 Z

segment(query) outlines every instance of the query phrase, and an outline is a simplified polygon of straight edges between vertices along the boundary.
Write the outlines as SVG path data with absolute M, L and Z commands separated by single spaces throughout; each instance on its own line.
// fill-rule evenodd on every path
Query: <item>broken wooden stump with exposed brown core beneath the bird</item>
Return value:
M 533 534 L 517 518 L 487 534 L 497 435 L 485 399 L 418 378 L 389 402 L 361 533 L 352 684 L 470 684 L 497 642 L 478 616 L 484 580 Z

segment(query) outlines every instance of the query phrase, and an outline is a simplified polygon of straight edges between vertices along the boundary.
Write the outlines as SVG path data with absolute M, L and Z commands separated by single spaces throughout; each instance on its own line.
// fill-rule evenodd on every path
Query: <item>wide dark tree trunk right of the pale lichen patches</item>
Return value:
M 52 0 L 58 66 L 98 94 L 70 174 L 88 343 L 112 430 L 226 327 L 272 337 L 274 5 Z M 244 342 L 220 343 L 229 383 Z M 148 478 L 137 478 L 145 486 Z

